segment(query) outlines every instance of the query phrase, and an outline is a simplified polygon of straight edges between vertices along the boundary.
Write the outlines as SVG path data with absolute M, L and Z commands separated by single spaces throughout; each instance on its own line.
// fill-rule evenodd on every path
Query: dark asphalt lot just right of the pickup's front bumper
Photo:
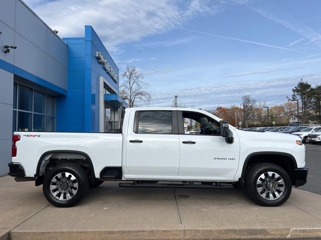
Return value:
M 304 144 L 305 162 L 309 167 L 307 183 L 298 187 L 321 195 L 321 144 Z

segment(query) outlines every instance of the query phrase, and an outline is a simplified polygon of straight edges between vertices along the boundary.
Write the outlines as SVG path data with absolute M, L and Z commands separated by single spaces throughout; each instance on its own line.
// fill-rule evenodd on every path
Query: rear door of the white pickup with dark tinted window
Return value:
M 132 112 L 133 113 L 133 112 Z M 176 110 L 137 110 L 128 128 L 125 164 L 132 175 L 177 176 L 180 143 Z

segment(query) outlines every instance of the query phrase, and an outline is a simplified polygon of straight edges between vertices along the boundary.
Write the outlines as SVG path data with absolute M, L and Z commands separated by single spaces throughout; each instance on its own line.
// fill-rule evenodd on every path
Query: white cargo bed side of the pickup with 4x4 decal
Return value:
M 36 173 L 38 161 L 48 151 L 80 151 L 93 162 L 96 178 L 106 166 L 121 166 L 122 135 L 117 133 L 76 133 L 76 132 L 15 132 L 17 156 L 14 163 L 20 163 L 27 177 Z M 40 135 L 28 137 L 27 135 Z M 108 157 L 107 157 L 108 156 Z

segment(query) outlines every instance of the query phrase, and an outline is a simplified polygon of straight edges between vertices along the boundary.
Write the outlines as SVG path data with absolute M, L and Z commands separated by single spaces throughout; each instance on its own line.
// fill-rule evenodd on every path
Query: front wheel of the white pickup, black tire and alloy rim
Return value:
M 272 173 L 271 177 L 268 172 L 273 172 L 274 176 Z M 262 180 L 258 180 L 262 179 L 260 178 L 260 176 L 262 174 L 264 175 L 264 173 L 268 173 L 267 177 L 265 175 L 263 178 L 263 180 L 267 182 L 267 184 L 265 184 Z M 281 178 L 275 177 L 277 176 L 275 173 L 278 174 Z M 282 182 L 280 182 L 280 179 L 282 180 Z M 262 184 L 257 184 L 257 181 Z M 282 167 L 272 163 L 259 163 L 253 165 L 252 168 L 247 172 L 245 177 L 245 188 L 248 195 L 257 204 L 261 206 L 279 206 L 289 198 L 292 190 L 292 182 L 289 174 Z M 283 189 L 283 191 L 281 191 L 280 189 Z M 261 194 L 259 193 L 259 190 L 261 190 Z

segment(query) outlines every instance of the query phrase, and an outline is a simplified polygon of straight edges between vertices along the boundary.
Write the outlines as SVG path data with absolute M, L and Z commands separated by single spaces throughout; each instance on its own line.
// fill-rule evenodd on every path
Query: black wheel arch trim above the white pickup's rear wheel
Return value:
M 35 184 L 36 184 L 36 186 L 41 185 L 43 183 L 43 180 L 44 180 L 44 175 L 40 174 L 40 169 L 42 167 L 42 162 L 45 160 L 45 157 L 47 155 L 50 155 L 50 154 L 53 155 L 53 154 L 57 154 L 57 153 L 58 154 L 59 153 L 65 153 L 65 154 L 67 153 L 67 154 L 75 154 L 74 156 L 79 156 L 79 155 L 84 156 L 85 159 L 88 161 L 88 164 L 89 164 L 90 175 L 91 175 L 92 178 L 95 178 L 95 171 L 94 171 L 94 166 L 93 166 L 92 160 L 91 160 L 90 156 L 86 152 L 77 151 L 77 150 L 50 150 L 50 151 L 44 152 L 40 156 L 40 158 L 38 160 L 36 174 L 35 174 Z M 48 159 L 50 159 L 50 157 Z M 47 164 L 48 164 L 48 162 L 47 162 Z

